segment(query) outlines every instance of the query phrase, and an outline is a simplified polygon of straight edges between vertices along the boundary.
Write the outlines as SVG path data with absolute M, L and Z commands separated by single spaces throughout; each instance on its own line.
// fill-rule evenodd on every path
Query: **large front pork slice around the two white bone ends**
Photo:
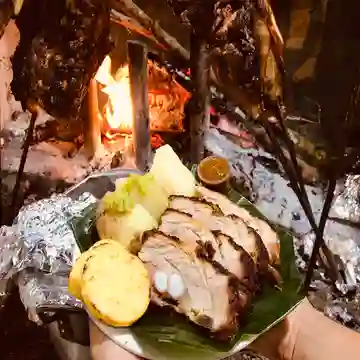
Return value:
M 185 291 L 176 299 L 153 287 L 155 303 L 170 306 L 220 338 L 234 334 L 248 310 L 251 294 L 238 288 L 226 270 L 188 252 L 181 241 L 159 231 L 144 234 L 139 258 L 152 278 L 160 271 L 167 278 L 177 274 L 184 283 Z

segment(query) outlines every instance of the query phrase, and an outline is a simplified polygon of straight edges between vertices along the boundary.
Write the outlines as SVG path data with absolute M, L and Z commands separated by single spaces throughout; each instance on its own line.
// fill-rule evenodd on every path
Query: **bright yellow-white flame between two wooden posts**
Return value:
M 108 95 L 104 115 L 111 129 L 131 129 L 133 107 L 130 94 L 129 67 L 120 68 L 115 75 L 111 75 L 111 58 L 106 56 L 95 75 L 97 82 L 104 88 L 102 92 Z

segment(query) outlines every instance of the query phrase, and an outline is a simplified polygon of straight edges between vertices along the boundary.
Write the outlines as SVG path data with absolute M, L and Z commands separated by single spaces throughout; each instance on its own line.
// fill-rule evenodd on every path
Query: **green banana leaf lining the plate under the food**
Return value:
M 194 169 L 192 169 L 194 172 Z M 234 189 L 228 191 L 228 197 L 241 207 L 246 208 L 254 216 L 264 216 L 245 197 Z M 94 215 L 89 209 L 85 217 Z M 91 232 L 81 234 L 81 224 L 91 223 L 91 219 L 83 219 L 74 228 L 77 232 L 79 247 L 85 250 L 92 241 Z M 135 339 L 141 347 L 141 353 L 146 358 L 156 360 L 177 359 L 220 359 L 241 350 L 261 333 L 281 321 L 297 304 L 302 297 L 299 293 L 303 277 L 295 264 L 295 253 L 292 235 L 276 225 L 270 224 L 278 233 L 280 239 L 280 262 L 278 267 L 283 279 L 282 290 L 268 287 L 255 299 L 253 309 L 246 319 L 244 326 L 240 327 L 235 338 L 228 342 L 219 342 L 211 339 L 208 334 L 198 327 L 190 324 L 185 317 L 169 312 L 168 310 L 151 308 L 132 327 L 125 331 Z M 80 233 L 79 233 L 80 232 Z M 118 338 L 115 328 L 110 328 L 96 322 L 99 327 L 115 342 Z M 124 331 L 124 330 L 122 330 Z M 122 342 L 120 345 L 124 346 Z M 125 346 L 126 347 L 126 346 Z M 128 347 L 131 350 L 131 347 Z

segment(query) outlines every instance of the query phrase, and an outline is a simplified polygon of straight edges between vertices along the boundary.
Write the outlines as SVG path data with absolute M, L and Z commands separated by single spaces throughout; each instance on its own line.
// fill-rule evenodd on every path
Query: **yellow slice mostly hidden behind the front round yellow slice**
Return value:
M 82 275 L 84 271 L 84 267 L 88 261 L 88 259 L 92 256 L 93 252 L 96 251 L 104 251 L 107 252 L 109 247 L 118 245 L 113 240 L 101 240 L 94 244 L 89 250 L 84 252 L 79 256 L 79 258 L 75 261 L 75 264 L 71 270 L 69 276 L 68 288 L 70 294 L 76 297 L 79 300 L 81 299 L 81 281 Z

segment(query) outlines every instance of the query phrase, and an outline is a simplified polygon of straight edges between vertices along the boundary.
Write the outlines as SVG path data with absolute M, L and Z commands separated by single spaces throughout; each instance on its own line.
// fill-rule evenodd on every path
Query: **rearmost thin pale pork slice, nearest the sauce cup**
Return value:
M 224 195 L 206 189 L 203 186 L 197 186 L 199 195 L 206 201 L 218 205 L 225 215 L 236 215 L 242 219 L 249 227 L 253 228 L 261 237 L 267 252 L 270 263 L 278 263 L 280 258 L 279 239 L 276 232 L 265 221 L 252 216 L 247 210 L 237 206 Z

